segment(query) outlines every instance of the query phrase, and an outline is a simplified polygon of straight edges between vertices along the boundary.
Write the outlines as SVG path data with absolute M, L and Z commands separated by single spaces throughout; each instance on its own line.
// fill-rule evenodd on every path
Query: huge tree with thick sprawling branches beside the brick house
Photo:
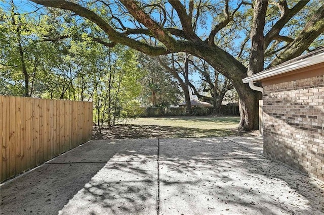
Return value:
M 322 44 L 324 30 L 324 5 L 317 1 L 31 1 L 90 20 L 97 31 L 89 34 L 104 33 L 109 45 L 204 59 L 236 88 L 242 130 L 257 128 L 260 94 L 241 79 Z

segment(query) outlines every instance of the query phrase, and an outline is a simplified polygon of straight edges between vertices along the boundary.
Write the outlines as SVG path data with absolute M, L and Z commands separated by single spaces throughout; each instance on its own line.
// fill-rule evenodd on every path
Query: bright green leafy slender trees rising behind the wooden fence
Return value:
M 99 126 L 137 117 L 143 74 L 135 50 L 94 41 L 85 33 L 92 23 L 79 25 L 66 12 L 46 9 L 37 17 L 14 2 L 3 6 L 1 94 L 92 100 Z

